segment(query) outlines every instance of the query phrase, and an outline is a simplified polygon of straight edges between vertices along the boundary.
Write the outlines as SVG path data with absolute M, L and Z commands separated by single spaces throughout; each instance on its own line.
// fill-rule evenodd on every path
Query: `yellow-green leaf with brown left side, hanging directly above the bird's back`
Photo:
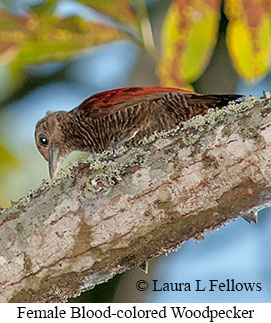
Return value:
M 194 82 L 217 39 L 220 0 L 175 0 L 163 23 L 159 76 L 164 86 Z

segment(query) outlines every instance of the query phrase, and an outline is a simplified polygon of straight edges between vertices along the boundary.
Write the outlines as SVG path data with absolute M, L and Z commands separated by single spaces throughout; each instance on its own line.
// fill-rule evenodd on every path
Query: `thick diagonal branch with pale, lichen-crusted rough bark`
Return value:
M 0 300 L 65 301 L 256 214 L 271 201 L 270 148 L 266 93 L 62 171 L 1 211 Z

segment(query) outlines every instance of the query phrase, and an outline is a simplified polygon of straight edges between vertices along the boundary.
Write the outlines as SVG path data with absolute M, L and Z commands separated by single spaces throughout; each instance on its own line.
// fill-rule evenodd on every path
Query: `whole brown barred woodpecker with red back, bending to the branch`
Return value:
M 164 87 L 127 87 L 97 93 L 73 110 L 48 114 L 36 125 L 36 144 L 49 162 L 53 179 L 57 167 L 72 151 L 101 153 L 118 144 L 136 144 L 154 131 L 181 126 L 208 109 L 242 97 L 203 95 Z

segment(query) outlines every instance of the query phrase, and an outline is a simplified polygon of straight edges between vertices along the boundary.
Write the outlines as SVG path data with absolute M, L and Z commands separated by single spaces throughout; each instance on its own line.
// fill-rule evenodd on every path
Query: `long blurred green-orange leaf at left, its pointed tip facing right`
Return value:
M 127 38 L 124 32 L 79 17 L 32 14 L 22 19 L 0 12 L 0 20 L 0 57 L 15 60 L 17 66 L 68 60 L 82 50 Z

